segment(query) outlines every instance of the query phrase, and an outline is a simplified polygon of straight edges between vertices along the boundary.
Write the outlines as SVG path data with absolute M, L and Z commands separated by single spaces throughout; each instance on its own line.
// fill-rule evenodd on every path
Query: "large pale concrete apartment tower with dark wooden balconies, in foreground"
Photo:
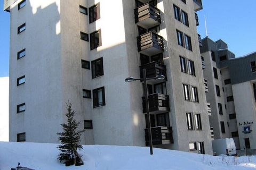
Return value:
M 57 143 L 69 100 L 85 145 L 212 154 L 196 11 L 201 0 L 4 1 L 10 24 L 10 141 Z

